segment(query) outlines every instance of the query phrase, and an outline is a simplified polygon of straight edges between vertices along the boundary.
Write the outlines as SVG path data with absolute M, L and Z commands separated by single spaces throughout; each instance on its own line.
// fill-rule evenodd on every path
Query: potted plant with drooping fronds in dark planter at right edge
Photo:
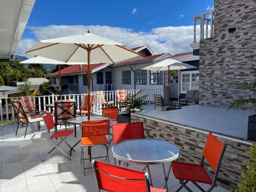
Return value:
M 232 83 L 233 87 L 236 87 L 240 90 L 249 90 L 252 91 L 255 95 L 256 94 L 256 82 L 253 83 Z M 229 105 L 228 109 L 231 108 L 241 108 L 241 106 L 246 104 L 252 104 L 252 106 L 256 107 L 256 98 L 249 98 L 249 99 L 242 99 L 233 102 L 231 105 Z M 256 141 L 256 114 L 250 115 L 248 117 L 248 132 L 247 132 L 247 139 Z

